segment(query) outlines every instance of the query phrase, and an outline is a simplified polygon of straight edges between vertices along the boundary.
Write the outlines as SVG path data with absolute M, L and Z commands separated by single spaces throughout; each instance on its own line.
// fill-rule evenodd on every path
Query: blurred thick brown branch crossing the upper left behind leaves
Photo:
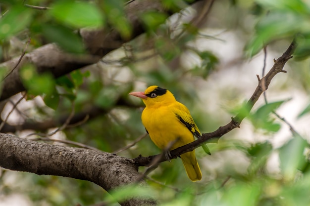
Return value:
M 89 55 L 76 56 L 66 54 L 56 45 L 47 44 L 25 54 L 20 63 L 18 63 L 20 57 L 16 57 L 0 64 L 0 68 L 4 67 L 9 71 L 17 65 L 14 71 L 2 82 L 0 101 L 25 90 L 19 77 L 19 69 L 22 65 L 27 63 L 33 64 L 38 72 L 50 72 L 55 78 L 57 78 L 68 74 L 73 70 L 97 63 L 104 55 L 119 48 L 124 42 L 130 41 L 144 33 L 145 30 L 139 20 L 139 13 L 150 10 L 162 11 L 167 14 L 176 12 L 175 10 L 173 12 L 165 10 L 160 0 L 135 0 L 125 6 L 127 19 L 133 27 L 132 36 L 126 40 L 123 40 L 116 30 L 105 29 L 100 31 L 90 31 L 82 29 L 80 35 Z

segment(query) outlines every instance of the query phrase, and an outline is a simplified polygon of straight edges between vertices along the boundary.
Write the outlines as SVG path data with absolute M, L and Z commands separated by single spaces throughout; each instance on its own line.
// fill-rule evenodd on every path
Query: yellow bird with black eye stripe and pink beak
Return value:
M 173 94 L 159 86 L 150 86 L 144 92 L 136 91 L 130 95 L 142 98 L 145 109 L 142 123 L 152 141 L 160 149 L 172 144 L 170 150 L 194 141 L 194 136 L 201 137 L 190 111 L 185 105 L 176 101 Z M 209 153 L 206 145 L 204 150 Z M 180 155 L 188 177 L 192 181 L 201 180 L 202 174 L 195 157 L 195 151 Z

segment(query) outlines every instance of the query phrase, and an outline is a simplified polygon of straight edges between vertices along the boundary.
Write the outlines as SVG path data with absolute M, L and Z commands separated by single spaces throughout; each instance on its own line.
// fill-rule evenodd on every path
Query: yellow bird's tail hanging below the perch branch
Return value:
M 187 152 L 180 156 L 187 176 L 193 181 L 201 180 L 202 174 L 195 157 L 195 151 Z

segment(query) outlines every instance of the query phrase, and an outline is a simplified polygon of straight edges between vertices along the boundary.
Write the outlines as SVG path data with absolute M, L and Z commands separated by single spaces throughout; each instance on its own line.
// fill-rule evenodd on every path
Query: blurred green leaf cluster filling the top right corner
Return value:
M 256 0 L 260 6 L 260 20 L 254 38 L 247 45 L 249 56 L 257 54 L 268 43 L 296 38 L 300 42 L 295 57 L 307 58 L 309 52 L 310 4 L 303 0 Z

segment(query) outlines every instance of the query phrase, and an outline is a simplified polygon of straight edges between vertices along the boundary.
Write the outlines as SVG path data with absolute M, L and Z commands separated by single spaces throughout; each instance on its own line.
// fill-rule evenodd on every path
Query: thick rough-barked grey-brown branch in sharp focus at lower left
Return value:
M 0 166 L 94 182 L 106 191 L 133 184 L 139 179 L 133 160 L 82 148 L 39 143 L 0 133 Z M 139 182 L 140 187 L 147 187 Z M 154 199 L 128 199 L 122 206 L 155 206 Z

